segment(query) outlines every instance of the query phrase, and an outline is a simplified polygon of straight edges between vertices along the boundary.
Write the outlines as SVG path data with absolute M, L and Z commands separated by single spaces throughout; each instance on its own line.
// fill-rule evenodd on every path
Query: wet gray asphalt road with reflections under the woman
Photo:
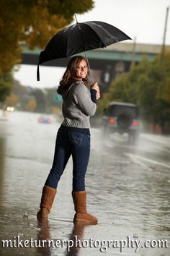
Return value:
M 39 116 L 0 113 L 0 255 L 170 255 L 170 244 L 166 244 L 170 240 L 170 137 L 141 134 L 137 145 L 128 145 L 125 136 L 105 140 L 100 129 L 91 128 L 87 208 L 99 223 L 74 226 L 72 222 L 71 159 L 49 221 L 37 223 L 42 186 L 60 127 L 58 122 L 39 124 Z M 75 237 L 85 241 L 82 247 L 71 247 Z M 8 248 L 5 239 L 10 241 Z M 58 247 L 38 247 L 31 239 L 58 241 Z M 69 252 L 64 240 L 70 243 Z M 148 248 L 143 245 L 146 240 L 152 241 Z M 161 248 L 158 240 L 165 241 Z M 25 241 L 29 244 L 23 246 Z

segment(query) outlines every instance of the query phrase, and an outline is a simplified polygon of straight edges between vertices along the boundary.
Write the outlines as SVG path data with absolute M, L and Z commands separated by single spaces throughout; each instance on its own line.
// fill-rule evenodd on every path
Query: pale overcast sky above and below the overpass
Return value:
M 94 2 L 94 9 L 90 12 L 77 14 L 79 22 L 90 20 L 108 22 L 130 38 L 136 38 L 137 43 L 162 43 L 166 8 L 170 7 L 170 0 L 95 0 Z M 170 45 L 170 13 L 166 44 Z M 36 67 L 21 65 L 19 71 L 14 73 L 14 77 L 22 85 L 53 88 L 58 86 L 63 72 L 63 68 L 40 67 L 40 82 L 37 82 Z

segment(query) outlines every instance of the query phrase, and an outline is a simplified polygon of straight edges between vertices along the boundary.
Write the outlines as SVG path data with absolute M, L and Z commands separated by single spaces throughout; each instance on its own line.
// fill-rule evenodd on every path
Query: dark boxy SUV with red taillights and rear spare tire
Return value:
M 138 106 L 131 103 L 111 102 L 104 109 L 104 134 L 112 132 L 128 133 L 129 142 L 138 138 Z

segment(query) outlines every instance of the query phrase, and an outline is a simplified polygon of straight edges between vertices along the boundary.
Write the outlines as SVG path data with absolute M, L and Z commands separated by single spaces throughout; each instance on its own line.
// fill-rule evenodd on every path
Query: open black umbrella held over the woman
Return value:
M 105 22 L 76 22 L 53 36 L 40 52 L 37 65 L 37 81 L 40 81 L 39 64 L 53 59 L 68 58 L 74 54 L 104 48 L 131 38 L 117 27 Z M 88 61 L 88 60 L 87 60 Z M 88 63 L 89 64 L 89 63 Z

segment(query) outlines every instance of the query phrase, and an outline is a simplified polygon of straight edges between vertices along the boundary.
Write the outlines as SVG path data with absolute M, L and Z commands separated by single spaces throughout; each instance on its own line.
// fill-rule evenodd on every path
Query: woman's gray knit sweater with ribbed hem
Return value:
M 97 104 L 91 101 L 90 90 L 84 82 L 73 82 L 62 97 L 64 117 L 62 124 L 66 127 L 90 128 L 89 116 L 95 114 Z

